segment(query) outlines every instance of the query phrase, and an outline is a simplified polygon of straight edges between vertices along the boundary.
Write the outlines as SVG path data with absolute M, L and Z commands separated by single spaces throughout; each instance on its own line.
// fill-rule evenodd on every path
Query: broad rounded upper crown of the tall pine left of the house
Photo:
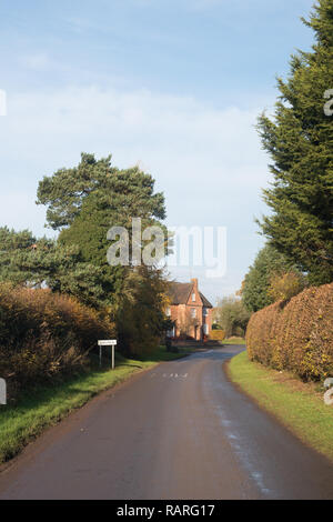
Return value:
M 120 170 L 111 165 L 111 155 L 97 160 L 82 153 L 78 167 L 60 169 L 39 183 L 37 203 L 47 205 L 47 222 L 54 230 L 73 224 L 88 197 L 88 212 L 103 212 L 104 225 L 130 225 L 131 217 L 148 220 L 165 218 L 164 195 L 154 193 L 154 180 L 139 167 Z M 87 217 L 87 214 L 85 214 Z

